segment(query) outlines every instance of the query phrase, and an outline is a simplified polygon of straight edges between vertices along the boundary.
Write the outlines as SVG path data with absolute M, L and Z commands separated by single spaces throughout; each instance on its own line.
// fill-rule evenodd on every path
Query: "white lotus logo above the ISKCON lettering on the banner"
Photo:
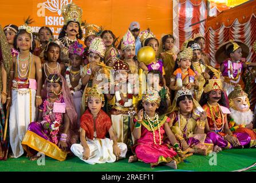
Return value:
M 45 8 L 52 11 L 57 12 L 58 15 L 61 15 L 61 9 L 63 6 L 68 5 L 71 3 L 72 0 L 48 0 L 44 2 Z

